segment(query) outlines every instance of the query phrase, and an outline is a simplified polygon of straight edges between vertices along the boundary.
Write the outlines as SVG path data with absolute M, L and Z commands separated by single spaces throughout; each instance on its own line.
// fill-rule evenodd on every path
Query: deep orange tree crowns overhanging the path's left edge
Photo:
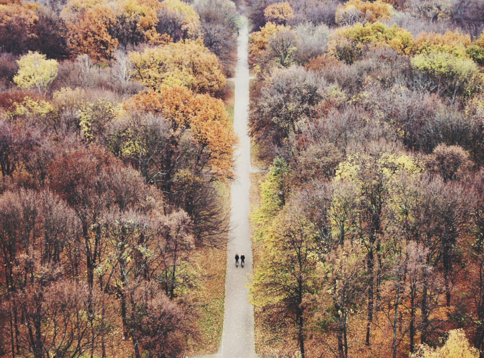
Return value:
M 210 152 L 210 168 L 216 176 L 232 175 L 235 135 L 225 106 L 208 94 L 195 95 L 186 87 L 163 86 L 160 92 L 140 92 L 124 103 L 126 110 L 161 113 L 174 130 L 189 129 L 201 148 Z

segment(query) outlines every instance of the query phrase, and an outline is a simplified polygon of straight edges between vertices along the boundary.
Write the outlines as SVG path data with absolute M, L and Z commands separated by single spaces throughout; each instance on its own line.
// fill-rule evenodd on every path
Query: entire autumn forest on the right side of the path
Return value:
M 484 356 L 484 4 L 248 3 L 258 352 Z

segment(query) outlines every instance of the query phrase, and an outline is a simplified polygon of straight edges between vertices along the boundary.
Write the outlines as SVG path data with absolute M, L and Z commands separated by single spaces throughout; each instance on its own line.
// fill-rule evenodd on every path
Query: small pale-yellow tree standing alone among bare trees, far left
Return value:
M 46 59 L 45 55 L 29 51 L 19 61 L 19 71 L 14 82 L 20 88 L 45 89 L 57 76 L 58 63 L 55 59 Z

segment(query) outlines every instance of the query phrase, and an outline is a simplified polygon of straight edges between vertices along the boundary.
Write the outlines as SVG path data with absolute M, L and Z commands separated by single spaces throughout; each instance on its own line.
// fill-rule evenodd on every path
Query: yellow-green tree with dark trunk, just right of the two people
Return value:
M 301 356 L 305 356 L 306 294 L 315 290 L 316 231 L 293 206 L 282 210 L 262 237 L 264 263 L 254 275 L 251 297 L 256 307 L 271 307 L 294 326 Z

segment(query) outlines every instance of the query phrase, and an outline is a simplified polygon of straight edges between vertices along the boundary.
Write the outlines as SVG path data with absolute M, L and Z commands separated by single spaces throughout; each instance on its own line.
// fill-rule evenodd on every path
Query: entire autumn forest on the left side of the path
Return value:
M 0 356 L 218 345 L 237 19 L 229 0 L 0 1 Z

